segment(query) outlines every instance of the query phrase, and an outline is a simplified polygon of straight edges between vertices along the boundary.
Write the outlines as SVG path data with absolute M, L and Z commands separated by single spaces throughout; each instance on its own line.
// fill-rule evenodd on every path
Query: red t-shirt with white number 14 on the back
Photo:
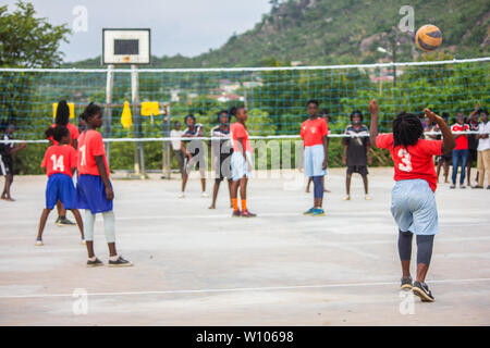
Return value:
M 72 169 L 76 167 L 76 150 L 70 145 L 52 145 L 46 150 L 41 166 L 46 167 L 48 176 L 56 173 L 72 176 Z

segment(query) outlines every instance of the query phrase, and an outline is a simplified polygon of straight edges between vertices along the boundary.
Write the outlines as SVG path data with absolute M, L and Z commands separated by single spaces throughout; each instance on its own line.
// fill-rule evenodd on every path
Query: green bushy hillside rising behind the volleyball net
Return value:
M 397 60 L 420 59 L 413 33 L 400 33 L 406 2 L 393 0 L 271 1 L 270 13 L 253 29 L 232 35 L 219 49 L 193 58 L 154 58 L 155 67 L 304 65 L 373 63 L 387 59 L 379 46 L 391 50 L 396 37 Z M 490 2 L 488 0 L 413 0 L 415 27 L 434 24 L 443 33 L 438 51 L 455 58 L 489 55 Z M 237 14 L 240 15 L 240 14 Z M 152 38 L 154 42 L 158 38 Z M 100 59 L 70 66 L 99 66 Z

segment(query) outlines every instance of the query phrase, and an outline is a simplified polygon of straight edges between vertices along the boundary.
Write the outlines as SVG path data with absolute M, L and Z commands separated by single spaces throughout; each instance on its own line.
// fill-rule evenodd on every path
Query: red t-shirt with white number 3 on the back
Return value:
M 414 146 L 393 148 L 393 134 L 381 134 L 376 138 L 376 146 L 389 149 L 394 162 L 394 179 L 408 181 L 421 178 L 429 183 L 432 191 L 438 187 L 438 176 L 433 165 L 433 156 L 442 154 L 442 140 L 419 139 Z

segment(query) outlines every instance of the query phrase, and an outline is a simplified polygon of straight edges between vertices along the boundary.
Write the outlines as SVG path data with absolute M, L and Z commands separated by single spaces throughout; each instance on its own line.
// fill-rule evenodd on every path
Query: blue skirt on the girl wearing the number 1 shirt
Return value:
M 106 186 L 100 176 L 89 174 L 78 176 L 76 207 L 88 209 L 93 214 L 112 211 L 112 200 L 107 199 Z

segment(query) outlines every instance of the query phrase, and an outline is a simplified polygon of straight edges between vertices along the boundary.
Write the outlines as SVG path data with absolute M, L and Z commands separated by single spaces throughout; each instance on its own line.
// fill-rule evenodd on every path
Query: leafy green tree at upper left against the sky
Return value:
M 36 18 L 34 5 L 19 0 L 11 13 L 0 7 L 0 66 L 52 67 L 62 62 L 61 41 L 68 42 L 66 24 L 54 26 Z

